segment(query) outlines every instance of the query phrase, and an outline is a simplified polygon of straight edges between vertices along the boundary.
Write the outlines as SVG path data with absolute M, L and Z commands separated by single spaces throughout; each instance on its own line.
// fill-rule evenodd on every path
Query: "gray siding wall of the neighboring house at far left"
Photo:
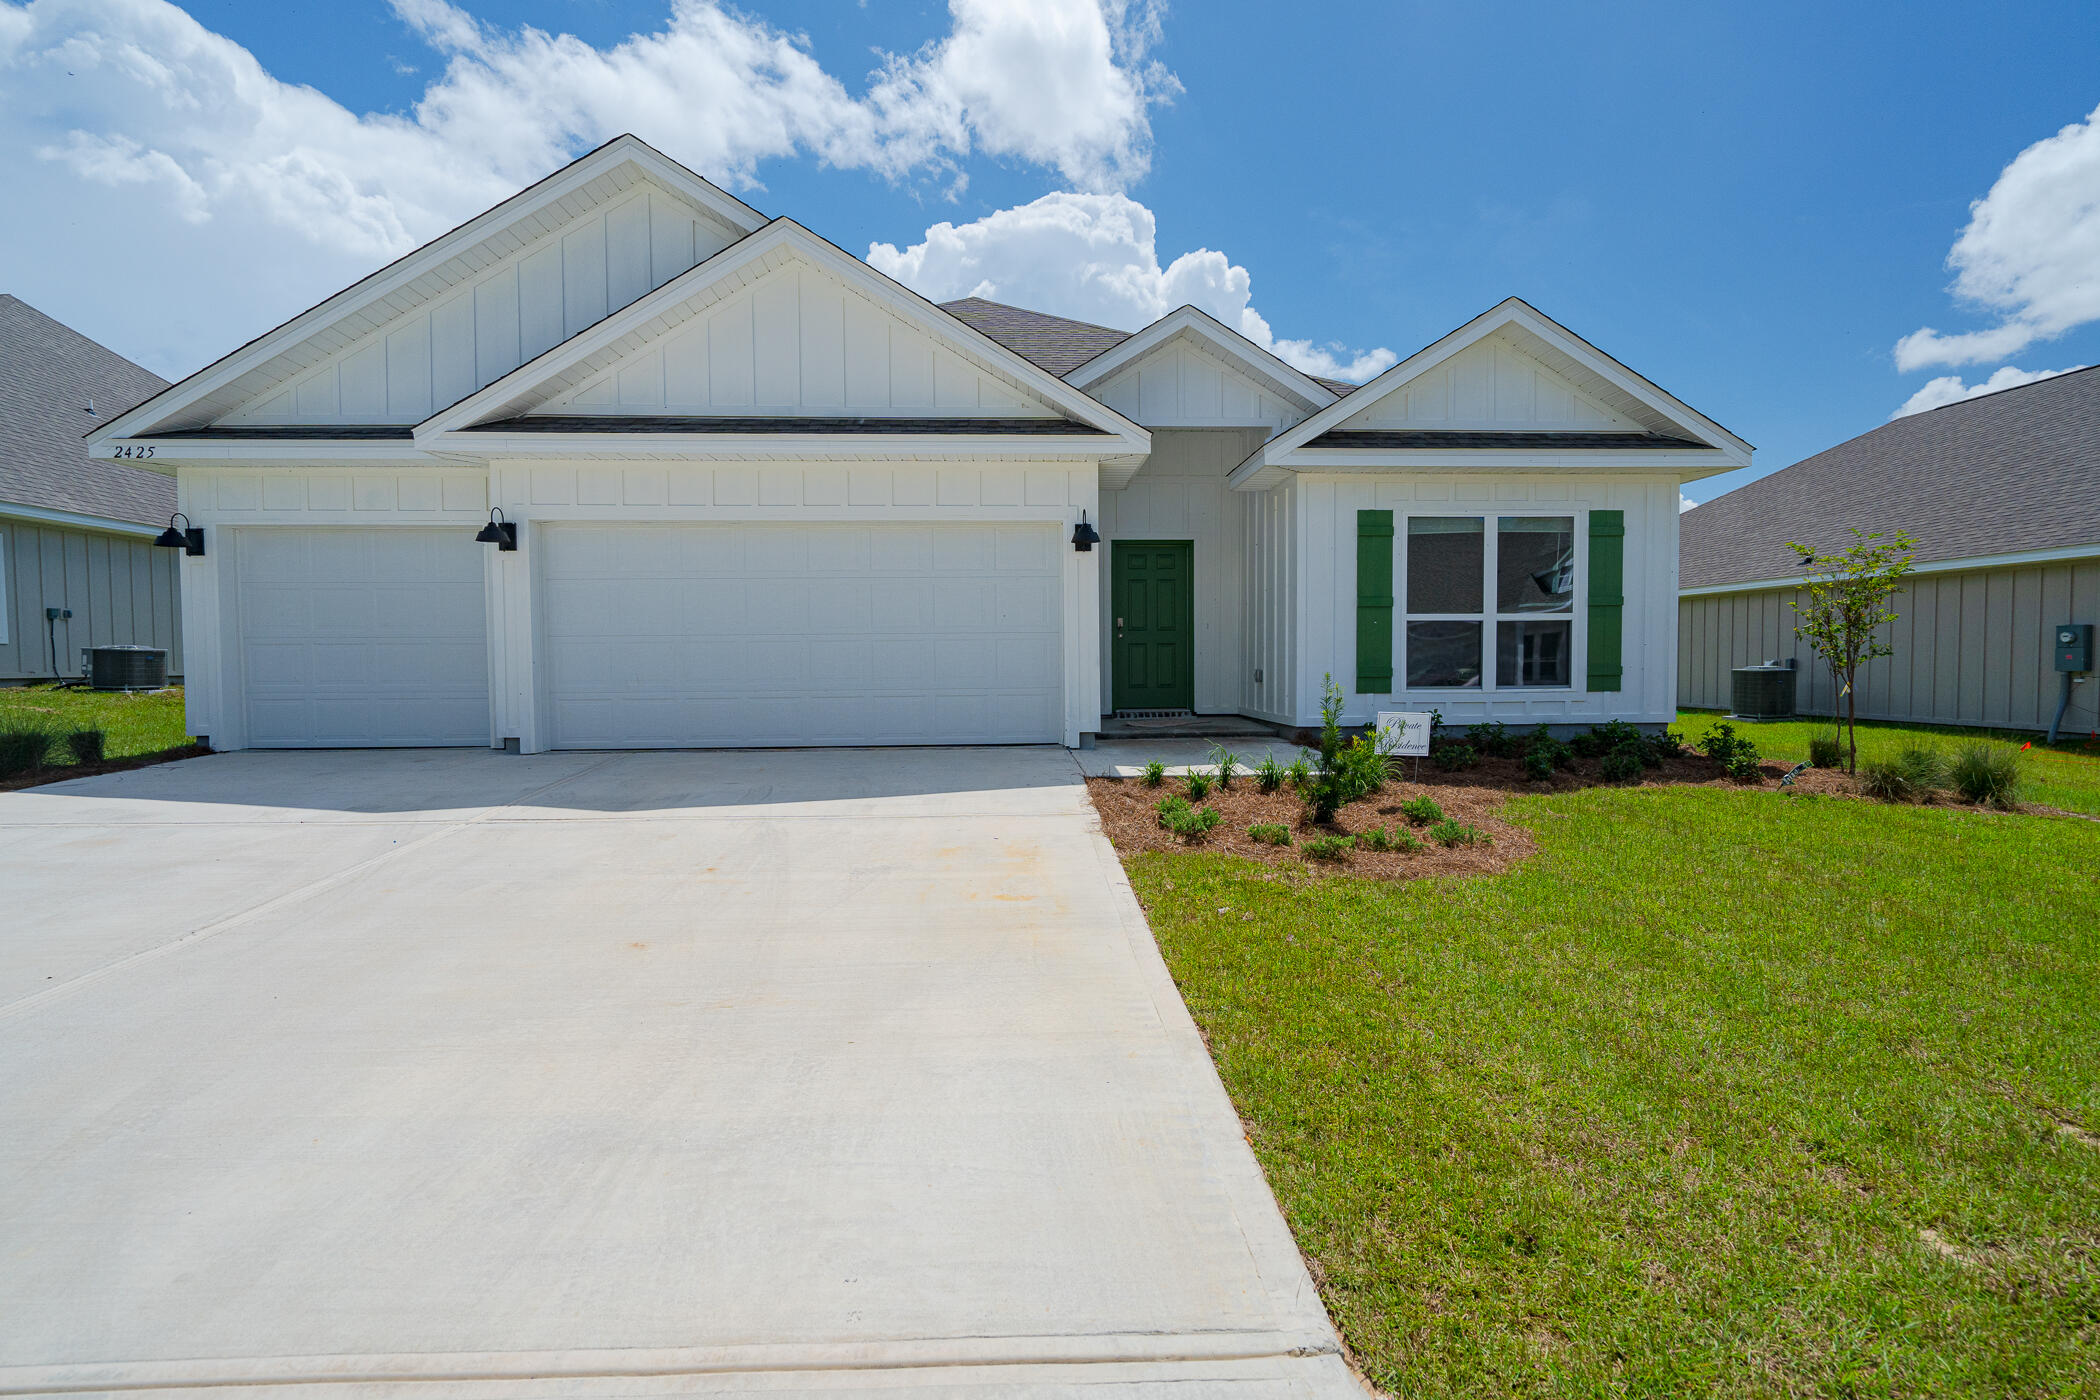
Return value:
M 80 674 L 82 646 L 136 644 L 166 646 L 168 676 L 181 676 L 176 554 L 139 535 L 0 518 L 0 684 L 50 680 L 46 607 L 74 611 L 57 623 L 59 674 Z

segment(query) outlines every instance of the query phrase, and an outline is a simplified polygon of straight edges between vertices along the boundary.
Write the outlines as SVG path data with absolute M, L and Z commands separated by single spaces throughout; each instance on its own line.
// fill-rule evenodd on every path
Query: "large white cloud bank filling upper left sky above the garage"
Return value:
M 951 0 L 949 31 L 859 92 L 718 0 L 605 48 L 393 6 L 443 63 L 407 113 L 279 82 L 166 0 L 0 0 L 8 290 L 189 372 L 626 130 L 731 187 L 815 157 L 960 189 L 991 157 L 1111 191 L 1178 92 L 1153 0 Z

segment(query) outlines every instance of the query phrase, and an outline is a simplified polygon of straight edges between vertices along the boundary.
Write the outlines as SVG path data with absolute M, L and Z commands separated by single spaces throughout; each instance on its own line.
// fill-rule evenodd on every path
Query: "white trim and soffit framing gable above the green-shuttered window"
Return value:
M 1682 451 L 1638 447 L 1586 447 L 1581 451 L 1512 451 L 1512 449 L 1380 449 L 1380 447 L 1315 447 L 1315 439 L 1336 430 L 1348 418 L 1384 399 L 1388 393 L 1436 369 L 1457 353 L 1489 336 L 1504 334 L 1514 346 L 1541 365 L 1594 395 L 1621 416 L 1642 424 L 1646 432 L 1632 437 L 1686 439 L 1695 447 Z M 1541 437 L 1546 437 L 1541 432 Z M 1602 437 L 1602 434 L 1600 434 Z M 1279 485 L 1292 472 L 1348 470 L 1670 470 L 1684 481 L 1749 466 L 1751 445 L 1728 432 L 1676 395 L 1634 374 L 1617 359 L 1567 330 L 1520 298 L 1508 298 L 1466 325 L 1415 351 L 1392 369 L 1304 422 L 1285 428 L 1241 462 L 1226 481 L 1241 491 L 1262 491 Z

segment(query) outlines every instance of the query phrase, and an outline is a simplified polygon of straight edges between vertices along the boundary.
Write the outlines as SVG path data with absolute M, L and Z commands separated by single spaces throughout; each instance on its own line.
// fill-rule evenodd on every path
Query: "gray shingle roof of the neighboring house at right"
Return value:
M 1680 586 L 1800 575 L 1789 539 L 1907 531 L 1917 563 L 2100 544 L 2100 367 L 1911 413 L 1688 510 Z

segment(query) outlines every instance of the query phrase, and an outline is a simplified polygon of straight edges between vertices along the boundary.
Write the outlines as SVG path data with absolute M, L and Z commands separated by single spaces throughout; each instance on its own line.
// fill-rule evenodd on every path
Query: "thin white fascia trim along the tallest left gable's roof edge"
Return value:
M 170 384 L 139 407 L 111 418 L 107 424 L 101 424 L 88 434 L 88 443 L 92 445 L 120 437 L 149 437 L 149 428 L 181 413 L 197 399 L 231 384 L 273 355 L 298 344 L 319 330 L 326 330 L 330 321 L 370 306 L 372 302 L 393 294 L 397 288 L 422 277 L 430 267 L 466 252 L 481 239 L 500 233 L 519 218 L 527 218 L 542 208 L 565 199 L 569 193 L 598 178 L 607 170 L 630 162 L 640 166 L 645 174 L 662 181 L 672 191 L 701 206 L 731 229 L 750 233 L 766 222 L 764 214 L 693 174 L 640 136 L 613 136 L 596 151 L 580 155 L 538 185 L 527 185 L 496 208 L 485 210 L 458 229 L 430 239 L 401 258 L 395 258 L 370 277 L 336 292 L 326 302 L 319 302 L 284 325 L 256 336 L 242 348 L 212 361 L 187 380 Z

